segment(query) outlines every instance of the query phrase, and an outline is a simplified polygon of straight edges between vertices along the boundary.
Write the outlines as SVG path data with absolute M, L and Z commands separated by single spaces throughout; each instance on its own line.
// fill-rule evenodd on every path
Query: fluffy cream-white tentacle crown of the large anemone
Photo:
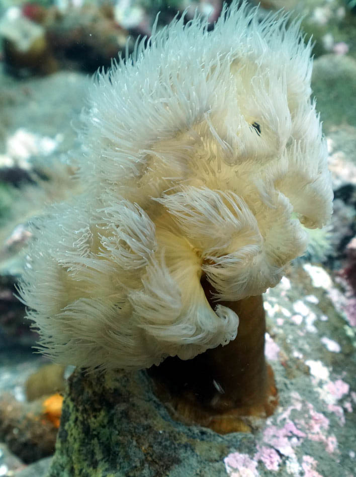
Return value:
M 311 44 L 288 21 L 238 2 L 213 31 L 183 15 L 97 73 L 84 192 L 35 220 L 20 285 L 46 355 L 143 368 L 226 344 L 238 316 L 219 300 L 275 286 L 328 222 Z

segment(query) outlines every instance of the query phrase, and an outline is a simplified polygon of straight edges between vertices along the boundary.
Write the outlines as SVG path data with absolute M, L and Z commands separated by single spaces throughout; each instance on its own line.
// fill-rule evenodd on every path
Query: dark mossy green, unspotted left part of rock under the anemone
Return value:
M 252 436 L 240 436 L 251 442 Z M 145 372 L 75 371 L 64 400 L 49 477 L 226 476 L 228 441 L 174 422 Z

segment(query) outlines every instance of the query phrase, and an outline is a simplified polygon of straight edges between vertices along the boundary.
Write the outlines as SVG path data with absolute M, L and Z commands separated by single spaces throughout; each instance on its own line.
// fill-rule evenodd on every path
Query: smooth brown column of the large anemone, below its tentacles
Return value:
M 214 306 L 210 285 L 202 285 Z M 251 417 L 270 416 L 277 405 L 273 371 L 264 359 L 262 296 L 220 303 L 239 316 L 236 339 L 187 361 L 167 358 L 149 374 L 174 418 L 222 434 L 249 431 Z

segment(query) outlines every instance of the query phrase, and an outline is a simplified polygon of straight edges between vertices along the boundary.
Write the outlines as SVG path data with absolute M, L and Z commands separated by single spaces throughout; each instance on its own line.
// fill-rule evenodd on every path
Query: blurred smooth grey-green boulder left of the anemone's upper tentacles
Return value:
M 77 140 L 71 121 L 78 118 L 90 84 L 86 75 L 68 71 L 26 81 L 0 75 L 0 138 L 4 146 L 25 125 L 37 139 L 47 136 L 57 141 L 57 159 L 73 149 Z M 4 152 L 5 147 L 0 150 Z M 49 159 L 46 156 L 42 162 Z

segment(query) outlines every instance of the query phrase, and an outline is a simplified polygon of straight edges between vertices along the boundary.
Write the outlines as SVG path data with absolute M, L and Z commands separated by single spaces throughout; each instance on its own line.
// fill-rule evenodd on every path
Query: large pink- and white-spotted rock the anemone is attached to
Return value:
M 335 309 L 339 293 L 324 269 L 304 264 L 265 294 L 265 353 L 279 407 L 253 434 L 222 436 L 175 421 L 144 371 L 76 371 L 49 477 L 351 477 L 356 339 Z

